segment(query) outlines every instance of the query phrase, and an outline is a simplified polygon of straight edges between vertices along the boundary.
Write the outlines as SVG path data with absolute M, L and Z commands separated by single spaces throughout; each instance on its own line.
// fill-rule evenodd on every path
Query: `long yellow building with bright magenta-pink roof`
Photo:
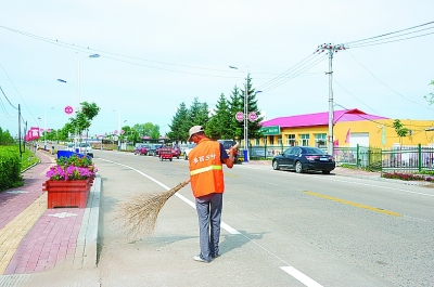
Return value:
M 396 119 L 369 115 L 360 109 L 335 110 L 332 141 L 329 141 L 329 113 L 279 117 L 261 122 L 264 139 L 253 145 L 307 145 L 327 148 L 329 142 L 335 147 L 371 146 L 434 146 L 434 119 L 399 119 L 408 129 L 407 136 L 399 138 L 394 128 Z M 432 130 L 431 130 L 432 129 Z

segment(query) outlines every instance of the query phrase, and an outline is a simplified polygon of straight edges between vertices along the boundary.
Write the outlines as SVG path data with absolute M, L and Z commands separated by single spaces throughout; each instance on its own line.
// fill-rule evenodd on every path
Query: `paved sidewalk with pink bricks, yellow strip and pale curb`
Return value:
M 24 186 L 0 193 L 0 286 L 24 286 L 28 274 L 97 265 L 101 178 L 87 208 L 47 209 L 42 183 L 55 155 L 38 151 L 37 156 L 40 164 L 24 172 Z

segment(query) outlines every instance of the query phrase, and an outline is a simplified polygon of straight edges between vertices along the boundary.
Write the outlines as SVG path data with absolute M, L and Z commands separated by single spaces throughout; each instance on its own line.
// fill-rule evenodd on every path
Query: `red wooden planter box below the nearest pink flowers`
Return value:
M 56 207 L 86 208 L 93 179 L 75 181 L 46 181 L 42 191 L 48 193 L 48 209 Z

